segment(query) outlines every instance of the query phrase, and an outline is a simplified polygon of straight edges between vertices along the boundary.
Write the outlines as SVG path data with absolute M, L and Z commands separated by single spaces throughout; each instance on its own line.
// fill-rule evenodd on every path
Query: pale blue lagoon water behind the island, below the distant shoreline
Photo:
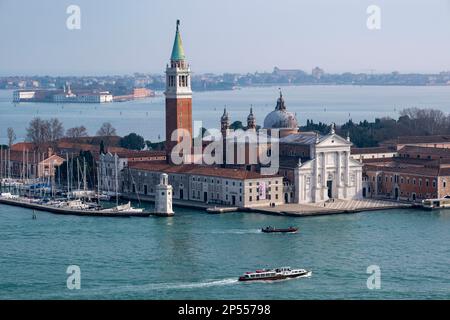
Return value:
M 283 87 L 288 109 L 296 112 L 301 124 L 306 119 L 354 121 L 376 117 L 397 117 L 406 107 L 430 107 L 450 112 L 448 87 L 362 87 L 300 86 Z M 218 128 L 224 105 L 232 121 L 246 121 L 250 105 L 254 106 L 258 124 L 272 111 L 278 98 L 277 87 L 244 88 L 235 91 L 194 93 L 193 118 L 207 128 Z M 164 139 L 164 99 L 161 93 L 153 99 L 103 105 L 21 103 L 12 101 L 12 91 L 0 90 L 0 143 L 6 142 L 6 128 L 14 127 L 23 139 L 28 122 L 35 116 L 58 117 L 66 128 L 84 125 L 95 134 L 105 121 L 117 128 L 118 134 L 130 131 L 156 141 Z

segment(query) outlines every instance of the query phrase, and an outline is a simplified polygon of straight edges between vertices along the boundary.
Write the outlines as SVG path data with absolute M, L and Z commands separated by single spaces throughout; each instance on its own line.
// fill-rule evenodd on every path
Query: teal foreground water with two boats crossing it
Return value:
M 450 211 L 380 211 L 288 218 L 208 215 L 174 218 L 62 217 L 0 206 L 2 299 L 449 299 Z M 266 225 L 301 232 L 267 235 Z M 66 268 L 81 268 L 81 290 Z M 313 276 L 238 283 L 241 273 L 290 265 Z M 366 268 L 381 268 L 368 290 Z

